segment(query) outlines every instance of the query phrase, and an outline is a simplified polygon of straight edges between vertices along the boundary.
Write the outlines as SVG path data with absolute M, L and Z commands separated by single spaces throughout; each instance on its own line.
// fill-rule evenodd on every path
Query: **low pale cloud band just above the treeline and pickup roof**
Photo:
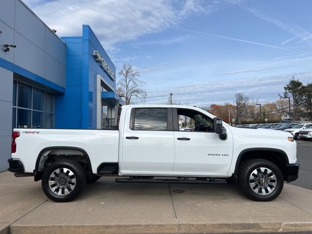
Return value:
M 254 99 L 258 98 L 261 102 L 265 100 L 273 101 L 273 97 L 278 99 L 278 94 L 283 93 L 283 87 L 292 76 L 300 79 L 303 83 L 312 79 L 312 73 L 298 73 L 176 86 L 167 89 L 149 90 L 147 103 L 164 104 L 167 102 L 170 92 L 174 93 L 175 101 L 200 107 L 208 107 L 213 103 L 233 103 L 234 95 L 238 92 L 242 92 Z

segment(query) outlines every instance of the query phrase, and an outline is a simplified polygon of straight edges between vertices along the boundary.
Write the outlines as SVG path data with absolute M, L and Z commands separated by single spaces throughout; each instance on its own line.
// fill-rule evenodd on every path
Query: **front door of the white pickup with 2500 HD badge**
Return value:
M 176 110 L 176 111 L 175 111 Z M 175 128 L 175 172 L 227 174 L 233 156 L 233 139 L 221 140 L 214 132 L 213 118 L 198 110 L 174 109 L 174 124 L 182 119 L 184 126 Z

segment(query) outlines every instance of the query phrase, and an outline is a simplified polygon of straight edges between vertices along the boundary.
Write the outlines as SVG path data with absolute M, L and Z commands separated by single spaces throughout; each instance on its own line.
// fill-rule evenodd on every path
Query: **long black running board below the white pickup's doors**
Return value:
M 117 178 L 117 183 L 170 183 L 170 184 L 226 184 L 222 179 L 197 180 L 197 179 L 134 179 Z

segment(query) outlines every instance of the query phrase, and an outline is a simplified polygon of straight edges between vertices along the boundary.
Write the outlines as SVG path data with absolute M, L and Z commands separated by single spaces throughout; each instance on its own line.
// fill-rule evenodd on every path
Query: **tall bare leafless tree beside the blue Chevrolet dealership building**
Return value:
M 125 104 L 133 104 L 133 99 L 139 99 L 141 103 L 144 103 L 147 93 L 141 88 L 145 82 L 139 79 L 139 72 L 134 71 L 130 64 L 122 64 L 118 75 L 120 79 L 117 82 L 117 94 L 124 99 Z

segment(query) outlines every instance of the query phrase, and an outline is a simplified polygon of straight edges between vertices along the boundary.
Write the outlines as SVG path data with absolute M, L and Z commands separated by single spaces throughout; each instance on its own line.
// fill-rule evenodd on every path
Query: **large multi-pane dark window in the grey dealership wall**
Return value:
M 54 95 L 13 81 L 13 128 L 54 128 Z

